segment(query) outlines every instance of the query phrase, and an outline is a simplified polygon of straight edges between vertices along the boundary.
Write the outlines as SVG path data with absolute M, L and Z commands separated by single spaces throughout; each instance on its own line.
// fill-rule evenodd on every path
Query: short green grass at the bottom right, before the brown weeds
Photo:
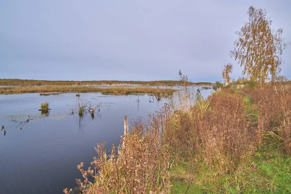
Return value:
M 171 178 L 172 194 L 185 194 L 190 167 L 179 163 Z M 291 158 L 282 150 L 265 148 L 257 151 L 249 162 L 234 174 L 225 174 L 199 162 L 187 194 L 289 194 L 291 193 Z

